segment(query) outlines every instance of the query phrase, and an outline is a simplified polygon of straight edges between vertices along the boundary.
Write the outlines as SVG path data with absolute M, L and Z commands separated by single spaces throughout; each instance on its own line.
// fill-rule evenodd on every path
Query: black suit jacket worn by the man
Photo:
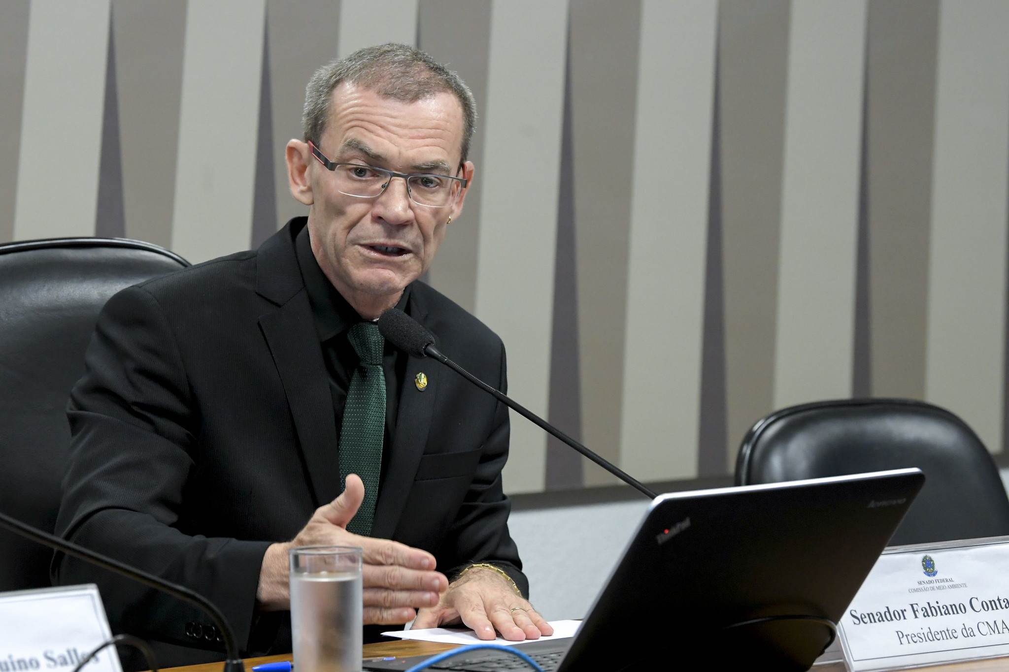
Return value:
M 74 388 L 57 532 L 188 585 L 215 602 L 245 652 L 290 647 L 255 614 L 266 547 L 290 540 L 340 493 L 326 369 L 295 255 L 293 220 L 256 251 L 116 294 Z M 446 355 L 506 388 L 500 340 L 431 287 L 414 317 Z M 428 386 L 413 384 L 423 372 Z M 450 571 L 492 561 L 524 592 L 500 472 L 507 409 L 433 360 L 411 358 L 372 536 L 435 555 Z M 207 617 L 58 556 L 62 583 L 97 582 L 113 631 L 219 646 Z M 276 644 L 279 642 L 278 644 Z

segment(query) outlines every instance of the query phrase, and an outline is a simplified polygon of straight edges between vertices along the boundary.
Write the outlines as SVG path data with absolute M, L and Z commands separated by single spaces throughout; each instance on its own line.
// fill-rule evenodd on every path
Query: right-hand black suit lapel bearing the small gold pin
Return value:
M 424 313 L 419 306 L 415 308 L 413 316 L 419 321 L 423 320 Z M 374 523 L 371 526 L 372 537 L 391 538 L 407 505 L 421 455 L 424 454 L 424 446 L 428 443 L 431 414 L 441 387 L 438 382 L 439 375 L 443 372 L 436 370 L 436 366 L 438 365 L 434 360 L 417 357 L 411 357 L 407 363 L 407 374 L 400 388 L 400 410 L 393 449 L 389 451 L 385 479 L 378 493 Z M 423 392 L 415 384 L 417 375 L 422 372 L 428 379 Z

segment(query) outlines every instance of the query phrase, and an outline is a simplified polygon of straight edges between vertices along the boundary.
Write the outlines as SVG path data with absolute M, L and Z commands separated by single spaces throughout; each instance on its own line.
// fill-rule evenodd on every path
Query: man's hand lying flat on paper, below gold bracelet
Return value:
M 495 630 L 510 642 L 554 634 L 533 606 L 516 594 L 512 583 L 484 567 L 469 569 L 452 581 L 436 607 L 418 612 L 412 628 L 439 628 L 460 621 L 481 640 L 494 639 Z

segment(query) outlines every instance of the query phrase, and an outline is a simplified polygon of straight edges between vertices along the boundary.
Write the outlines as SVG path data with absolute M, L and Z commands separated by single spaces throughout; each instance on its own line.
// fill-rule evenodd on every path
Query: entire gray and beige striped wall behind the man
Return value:
M 723 474 L 775 406 L 855 392 L 999 450 L 1007 8 L 12 0 L 0 239 L 244 249 L 305 212 L 283 159 L 309 74 L 416 41 L 480 108 L 429 278 L 502 335 L 523 403 L 645 480 Z M 509 491 L 607 482 L 547 445 L 515 419 Z

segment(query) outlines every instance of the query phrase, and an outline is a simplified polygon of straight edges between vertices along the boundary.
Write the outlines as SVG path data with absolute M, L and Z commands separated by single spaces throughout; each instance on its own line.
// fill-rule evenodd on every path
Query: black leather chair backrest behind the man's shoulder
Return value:
M 120 289 L 187 266 L 123 239 L 0 245 L 0 511 L 52 531 L 70 446 L 67 399 L 99 310 Z M 0 549 L 0 591 L 49 585 L 49 550 L 6 531 Z

